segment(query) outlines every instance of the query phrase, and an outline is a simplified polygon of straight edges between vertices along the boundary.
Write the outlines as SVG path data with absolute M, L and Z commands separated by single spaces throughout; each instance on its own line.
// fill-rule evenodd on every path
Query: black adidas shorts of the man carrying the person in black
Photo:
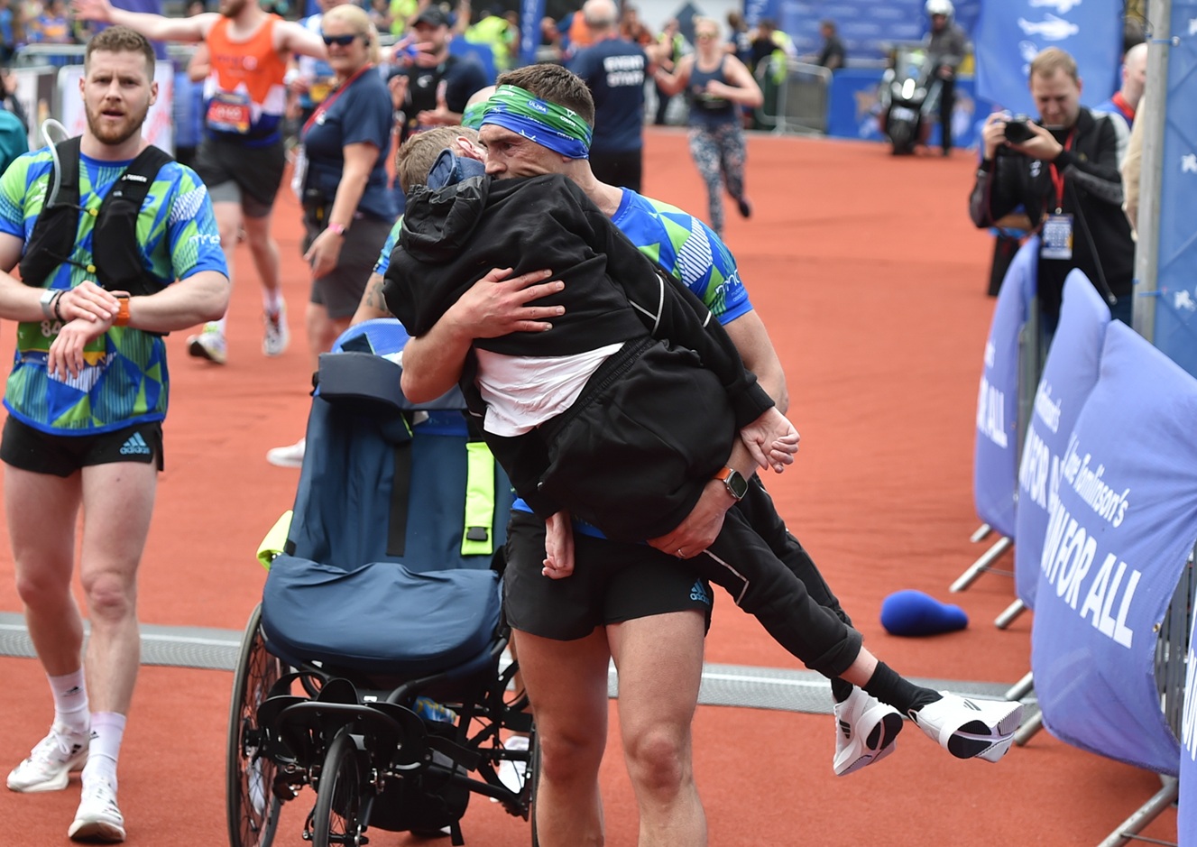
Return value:
M 648 544 L 596 538 L 575 531 L 575 569 L 549 579 L 545 522 L 511 513 L 503 572 L 508 622 L 521 632 L 572 641 L 596 627 L 695 609 L 711 626 L 711 587 L 686 562 Z

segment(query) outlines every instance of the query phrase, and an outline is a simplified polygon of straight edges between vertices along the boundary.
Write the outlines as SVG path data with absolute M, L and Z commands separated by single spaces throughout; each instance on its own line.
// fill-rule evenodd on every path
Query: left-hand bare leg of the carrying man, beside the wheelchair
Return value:
M 603 843 L 598 764 L 607 745 L 607 635 L 558 641 L 515 633 L 519 672 L 536 717 L 540 782 L 536 835 L 542 847 Z

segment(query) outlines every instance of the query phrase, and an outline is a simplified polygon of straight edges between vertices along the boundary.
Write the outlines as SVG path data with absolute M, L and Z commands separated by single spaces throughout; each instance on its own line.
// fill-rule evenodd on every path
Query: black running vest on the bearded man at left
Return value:
M 62 182 L 57 195 L 47 197 L 47 205 L 34 224 L 20 260 L 22 281 L 42 287 L 55 268 L 68 262 L 96 274 L 96 281 L 107 291 L 127 291 L 133 295 L 162 291 L 162 285 L 141 262 L 138 215 L 158 171 L 174 159 L 153 145 L 146 147 L 104 196 L 97 212 L 79 206 L 79 144 L 80 136 L 77 135 L 55 145 L 59 163 L 73 163 L 74 166 L 62 167 L 60 164 L 51 175 L 51 184 L 55 176 Z M 96 215 L 92 263 L 86 266 L 72 258 L 80 213 Z

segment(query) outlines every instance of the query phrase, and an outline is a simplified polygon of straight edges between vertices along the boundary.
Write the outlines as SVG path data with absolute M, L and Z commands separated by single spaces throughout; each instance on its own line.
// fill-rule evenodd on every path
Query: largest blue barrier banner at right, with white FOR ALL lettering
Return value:
M 1068 440 L 1040 559 L 1031 666 L 1044 724 L 1175 775 L 1157 628 L 1197 538 L 1197 380 L 1113 321 Z

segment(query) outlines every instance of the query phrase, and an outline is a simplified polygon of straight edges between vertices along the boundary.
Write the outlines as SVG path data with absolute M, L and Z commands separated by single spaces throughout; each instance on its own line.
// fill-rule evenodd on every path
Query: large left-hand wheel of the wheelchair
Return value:
M 261 755 L 257 707 L 282 675 L 282 663 L 266 650 L 262 609 L 249 616 L 241 641 L 229 713 L 225 805 L 232 847 L 269 847 L 281 800 L 274 794 L 274 762 Z

